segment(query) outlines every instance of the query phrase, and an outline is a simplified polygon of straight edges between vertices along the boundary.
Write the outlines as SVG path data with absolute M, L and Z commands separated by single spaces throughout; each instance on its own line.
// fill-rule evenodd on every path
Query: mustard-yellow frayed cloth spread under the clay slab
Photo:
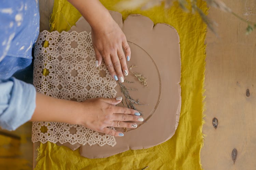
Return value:
M 119 0 L 101 0 L 109 10 Z M 198 6 L 207 13 L 207 4 L 199 0 Z M 121 11 L 119 11 L 121 12 Z M 207 26 L 198 14 L 185 13 L 177 2 L 170 10 L 163 5 L 151 10 L 121 12 L 123 19 L 129 14 L 142 14 L 154 23 L 164 22 L 173 26 L 180 35 L 181 46 L 181 96 L 180 123 L 175 135 L 161 145 L 129 150 L 108 158 L 88 159 L 72 151 L 47 142 L 38 150 L 36 169 L 201 169 L 200 149 L 203 145 L 203 81 L 205 65 L 204 39 Z M 55 0 L 51 31 L 68 31 L 81 14 L 66 0 Z

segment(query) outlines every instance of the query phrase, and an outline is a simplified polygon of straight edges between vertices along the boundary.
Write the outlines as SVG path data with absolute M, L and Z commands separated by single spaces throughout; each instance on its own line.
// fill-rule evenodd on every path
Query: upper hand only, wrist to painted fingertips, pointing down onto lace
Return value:
M 102 58 L 104 58 L 106 67 L 112 77 L 123 83 L 124 75 L 128 75 L 129 72 L 126 60 L 130 60 L 130 47 L 123 31 L 112 18 L 104 21 L 104 23 L 104 26 L 92 28 L 91 31 L 96 55 L 96 67 L 101 64 Z

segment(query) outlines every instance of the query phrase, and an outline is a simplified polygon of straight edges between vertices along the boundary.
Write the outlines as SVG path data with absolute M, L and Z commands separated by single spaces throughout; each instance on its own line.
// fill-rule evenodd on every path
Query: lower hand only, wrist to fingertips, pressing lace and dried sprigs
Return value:
M 142 122 L 144 120 L 136 110 L 115 106 L 121 101 L 122 97 L 95 98 L 81 102 L 84 113 L 77 115 L 77 118 L 79 118 L 77 124 L 108 135 L 124 136 L 122 132 L 112 130 L 108 127 L 135 129 L 138 126 L 136 123 L 126 121 Z

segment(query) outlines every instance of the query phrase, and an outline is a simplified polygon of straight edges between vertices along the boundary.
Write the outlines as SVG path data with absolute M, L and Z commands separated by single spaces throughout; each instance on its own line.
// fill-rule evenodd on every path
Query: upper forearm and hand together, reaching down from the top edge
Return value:
M 98 67 L 104 58 L 112 77 L 123 83 L 124 75 L 128 75 L 126 60 L 129 61 L 131 57 L 123 31 L 99 0 L 68 1 L 79 10 L 91 26 L 96 66 Z

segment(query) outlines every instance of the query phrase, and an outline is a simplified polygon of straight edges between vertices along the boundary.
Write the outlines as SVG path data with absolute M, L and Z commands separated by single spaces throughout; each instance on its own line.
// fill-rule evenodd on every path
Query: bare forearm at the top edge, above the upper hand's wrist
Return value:
M 86 19 L 93 29 L 104 28 L 104 22 L 112 19 L 109 11 L 99 0 L 68 0 Z

